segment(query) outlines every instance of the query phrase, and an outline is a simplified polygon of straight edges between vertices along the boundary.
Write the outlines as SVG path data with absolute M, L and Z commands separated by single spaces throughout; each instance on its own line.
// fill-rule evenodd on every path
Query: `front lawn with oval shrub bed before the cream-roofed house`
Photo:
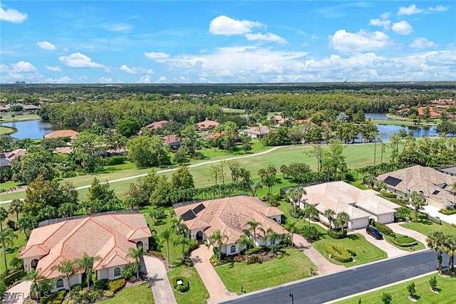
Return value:
M 329 258 L 328 253 L 326 253 L 325 246 L 330 244 L 337 244 L 343 248 L 351 249 L 356 252 L 356 256 L 354 256 L 353 261 L 349 263 L 341 263 L 332 258 Z M 312 246 L 314 246 L 314 248 L 316 248 L 316 250 L 318 250 L 318 252 L 321 253 L 325 258 L 327 258 L 328 261 L 331 261 L 331 263 L 343 265 L 346 267 L 361 265 L 387 257 L 385 251 L 366 241 L 364 236 L 361 234 L 349 234 L 345 239 L 340 240 L 331 239 L 326 235 L 323 236 L 321 240 L 312 243 Z

